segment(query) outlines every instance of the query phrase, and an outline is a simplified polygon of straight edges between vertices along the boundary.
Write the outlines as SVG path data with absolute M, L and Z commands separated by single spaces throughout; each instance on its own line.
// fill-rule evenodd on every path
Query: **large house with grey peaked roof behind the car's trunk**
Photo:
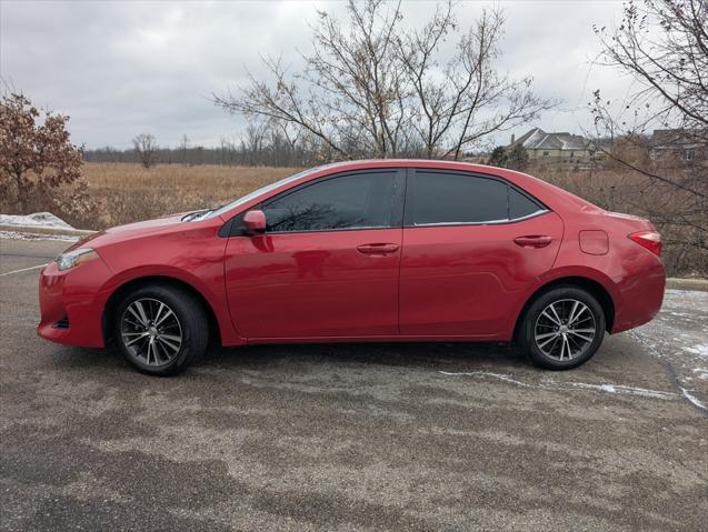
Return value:
M 511 135 L 507 150 L 517 144 L 526 149 L 530 162 L 588 164 L 598 157 L 592 145 L 579 134 L 547 133 L 540 128 L 534 128 L 518 139 Z

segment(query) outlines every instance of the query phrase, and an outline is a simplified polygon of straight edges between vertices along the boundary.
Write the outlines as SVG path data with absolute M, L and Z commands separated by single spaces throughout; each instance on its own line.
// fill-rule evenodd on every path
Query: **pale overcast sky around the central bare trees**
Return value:
M 459 22 L 469 26 L 490 4 L 461 2 Z M 626 79 L 591 64 L 599 51 L 592 23 L 618 21 L 621 2 L 497 4 L 507 16 L 499 68 L 532 76 L 539 94 L 561 100 L 534 126 L 579 133 L 590 127 L 595 89 L 626 92 Z M 342 8 L 311 0 L 0 0 L 0 77 L 36 104 L 69 114 L 73 142 L 88 148 L 127 148 L 140 132 L 161 145 L 177 145 L 185 133 L 192 145 L 217 145 L 222 137 L 238 138 L 243 121 L 216 108 L 212 92 L 243 84 L 247 68 L 262 71 L 259 54 L 282 54 L 297 66 L 297 50 L 309 50 L 316 10 Z M 421 22 L 433 8 L 405 3 L 406 23 Z

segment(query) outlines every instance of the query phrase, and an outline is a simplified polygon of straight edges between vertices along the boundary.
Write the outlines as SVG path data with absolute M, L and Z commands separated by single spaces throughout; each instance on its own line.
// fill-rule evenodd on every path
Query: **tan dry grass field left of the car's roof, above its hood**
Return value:
M 87 229 L 219 205 L 300 170 L 179 164 L 144 169 L 128 163 L 86 163 L 89 193 L 100 205 L 93 225 Z

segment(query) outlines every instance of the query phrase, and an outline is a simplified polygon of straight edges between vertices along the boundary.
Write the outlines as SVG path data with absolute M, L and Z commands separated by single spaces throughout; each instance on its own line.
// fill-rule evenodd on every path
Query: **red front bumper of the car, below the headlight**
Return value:
M 102 348 L 103 307 L 100 291 L 110 271 L 102 260 L 59 271 L 48 264 L 39 275 L 40 322 L 37 334 L 52 342 L 84 348 Z

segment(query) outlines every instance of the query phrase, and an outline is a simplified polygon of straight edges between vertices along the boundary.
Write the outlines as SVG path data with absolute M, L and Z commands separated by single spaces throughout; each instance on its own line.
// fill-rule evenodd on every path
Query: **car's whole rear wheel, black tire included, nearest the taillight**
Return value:
M 571 318 L 574 322 L 568 323 Z M 602 307 L 592 294 L 560 285 L 536 297 L 521 317 L 516 340 L 535 365 L 570 370 L 586 363 L 600 348 L 605 323 Z

